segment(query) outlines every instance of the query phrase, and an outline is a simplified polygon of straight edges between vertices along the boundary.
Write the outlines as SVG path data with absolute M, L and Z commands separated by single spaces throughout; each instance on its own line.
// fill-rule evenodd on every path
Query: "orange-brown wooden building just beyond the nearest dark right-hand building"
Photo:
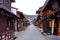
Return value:
M 43 28 L 44 27 L 44 23 L 43 23 L 43 12 L 42 12 L 42 7 L 40 7 L 37 11 L 36 11 L 36 13 L 38 14 L 38 17 L 37 17 L 37 20 L 39 21 L 39 23 L 38 23 L 38 26 L 40 27 L 40 28 Z

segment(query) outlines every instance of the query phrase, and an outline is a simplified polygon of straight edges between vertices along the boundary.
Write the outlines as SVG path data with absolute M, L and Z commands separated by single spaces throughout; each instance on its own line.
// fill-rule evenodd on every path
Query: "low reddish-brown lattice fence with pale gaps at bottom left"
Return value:
M 0 32 L 0 40 L 14 40 L 14 31 Z

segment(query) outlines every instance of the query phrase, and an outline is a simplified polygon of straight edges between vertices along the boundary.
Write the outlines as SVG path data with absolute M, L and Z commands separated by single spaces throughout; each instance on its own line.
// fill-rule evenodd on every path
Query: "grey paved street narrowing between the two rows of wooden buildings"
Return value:
M 43 36 L 39 30 L 31 24 L 27 27 L 25 31 L 20 32 L 17 35 L 16 40 L 49 40 L 45 36 Z

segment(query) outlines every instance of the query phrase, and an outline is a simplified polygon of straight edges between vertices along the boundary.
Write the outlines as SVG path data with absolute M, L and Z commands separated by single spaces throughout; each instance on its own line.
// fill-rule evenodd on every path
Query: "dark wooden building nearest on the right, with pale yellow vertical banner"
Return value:
M 48 0 L 43 11 L 45 11 L 49 27 L 51 28 L 51 34 L 60 36 L 60 0 Z

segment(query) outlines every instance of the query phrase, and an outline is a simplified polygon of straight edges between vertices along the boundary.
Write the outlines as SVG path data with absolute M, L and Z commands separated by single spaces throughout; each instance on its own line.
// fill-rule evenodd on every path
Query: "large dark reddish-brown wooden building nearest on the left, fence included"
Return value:
M 15 0 L 0 0 L 0 40 L 13 40 L 14 38 L 14 23 L 18 17 L 11 12 L 12 2 Z

